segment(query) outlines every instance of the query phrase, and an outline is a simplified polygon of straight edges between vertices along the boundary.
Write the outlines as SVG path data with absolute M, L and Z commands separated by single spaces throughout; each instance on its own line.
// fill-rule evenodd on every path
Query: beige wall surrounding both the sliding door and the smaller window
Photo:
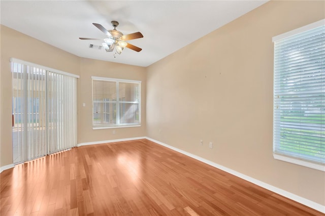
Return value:
M 146 72 L 143 67 L 80 58 L 52 47 L 35 38 L 1 25 L 1 131 L 0 167 L 12 164 L 12 85 L 10 58 L 66 71 L 78 79 L 78 143 L 122 138 L 143 137 L 146 134 Z M 91 76 L 103 76 L 142 81 L 142 126 L 93 130 L 91 127 Z M 83 107 L 82 103 L 86 103 Z

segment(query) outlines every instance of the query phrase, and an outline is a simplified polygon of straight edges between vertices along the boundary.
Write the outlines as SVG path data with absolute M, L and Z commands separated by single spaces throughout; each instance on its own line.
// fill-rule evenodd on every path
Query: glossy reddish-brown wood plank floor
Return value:
M 148 140 L 89 145 L 1 173 L 4 215 L 324 215 Z

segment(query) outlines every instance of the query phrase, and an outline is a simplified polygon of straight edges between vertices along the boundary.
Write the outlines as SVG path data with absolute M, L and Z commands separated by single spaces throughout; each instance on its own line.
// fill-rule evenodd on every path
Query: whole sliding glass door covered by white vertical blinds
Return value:
M 13 163 L 77 144 L 77 78 L 12 61 Z

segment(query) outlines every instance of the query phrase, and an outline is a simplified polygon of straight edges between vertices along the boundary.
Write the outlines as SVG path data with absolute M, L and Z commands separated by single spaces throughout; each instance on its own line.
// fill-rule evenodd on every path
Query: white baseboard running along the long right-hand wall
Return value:
M 173 147 L 173 146 L 167 145 L 167 144 L 165 144 L 165 143 L 159 142 L 159 141 L 157 141 L 157 140 L 154 140 L 154 139 L 151 139 L 151 138 L 148 138 L 148 137 L 146 137 L 146 139 L 147 139 L 147 140 L 150 140 L 150 141 L 152 141 L 152 142 L 154 142 L 154 143 L 157 143 L 157 144 L 159 144 L 159 145 L 162 145 L 162 146 L 165 146 L 165 147 L 167 147 L 167 148 L 170 148 L 170 149 L 172 149 L 172 150 L 174 150 L 174 151 L 177 151 L 177 152 L 179 152 L 179 153 L 185 154 L 185 155 L 187 155 L 187 156 L 189 156 L 189 157 L 191 157 L 191 158 L 194 158 L 194 159 L 200 160 L 200 161 L 202 161 L 202 162 L 204 162 L 204 163 L 206 163 L 206 164 L 209 164 L 209 165 L 214 166 L 214 167 L 216 167 L 216 168 L 218 168 L 218 169 L 221 169 L 221 170 L 223 170 L 223 171 L 226 171 L 226 172 L 228 172 L 228 173 L 230 173 L 230 174 L 232 174 L 232 175 L 234 175 L 234 176 L 237 176 L 237 177 L 239 177 L 239 178 L 241 178 L 241 179 L 244 179 L 244 180 L 246 180 L 246 181 L 248 181 L 248 182 L 251 182 L 251 183 L 253 183 L 253 184 L 255 184 L 255 185 L 258 185 L 258 186 L 260 186 L 260 187 L 262 187 L 262 188 L 268 189 L 268 190 L 270 190 L 270 191 L 272 191 L 272 192 L 274 192 L 274 193 L 280 194 L 280 195 L 282 195 L 282 196 L 284 196 L 284 197 L 286 197 L 286 198 L 289 198 L 289 199 L 294 200 L 294 201 L 296 201 L 296 202 L 299 202 L 299 203 L 301 203 L 301 204 L 303 204 L 303 205 L 306 205 L 306 206 L 308 206 L 308 207 L 311 207 L 311 208 L 313 208 L 313 209 L 315 209 L 315 210 L 317 210 L 317 211 L 320 211 L 320 212 L 322 212 L 322 213 L 325 213 L 325 206 L 324 206 L 324 205 L 321 205 L 321 204 L 319 204 L 319 203 L 313 202 L 313 201 L 311 201 L 311 200 L 309 200 L 309 199 L 303 198 L 303 197 L 301 197 L 301 196 L 298 196 L 298 195 L 296 195 L 296 194 L 293 194 L 293 193 L 290 193 L 290 192 L 288 192 L 288 191 L 282 190 L 282 189 L 280 189 L 280 188 L 274 187 L 274 186 L 269 185 L 269 184 L 267 184 L 267 183 L 265 183 L 265 182 L 262 182 L 262 181 L 259 181 L 259 180 L 257 180 L 257 179 L 254 179 L 254 178 L 251 178 L 251 177 L 249 177 L 249 176 L 246 176 L 246 175 L 244 175 L 244 174 L 242 174 L 242 173 L 240 173 L 240 172 L 238 172 L 238 171 L 235 171 L 235 170 L 233 170 L 233 169 L 227 168 L 227 167 L 225 167 L 225 166 L 222 166 L 222 165 L 220 165 L 220 164 L 217 164 L 217 163 L 212 162 L 212 161 L 210 161 L 210 160 L 207 160 L 207 159 L 205 159 L 205 158 L 199 157 L 199 156 L 197 156 L 197 155 L 194 155 L 194 154 L 188 153 L 188 152 L 186 152 L 186 151 L 183 151 L 183 150 L 181 150 L 181 149 L 175 148 L 175 147 Z

